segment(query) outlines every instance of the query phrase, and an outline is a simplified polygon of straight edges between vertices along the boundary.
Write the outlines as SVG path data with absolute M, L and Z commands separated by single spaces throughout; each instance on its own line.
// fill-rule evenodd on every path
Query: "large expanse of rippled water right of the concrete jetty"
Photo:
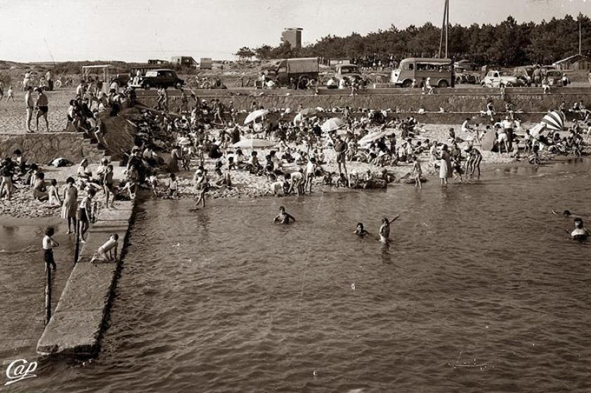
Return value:
M 589 392 L 588 164 L 138 213 L 103 350 L 10 392 Z M 273 225 L 280 204 L 297 218 Z M 383 215 L 389 248 L 375 234 Z M 589 222 L 591 225 L 591 222 Z M 451 368 L 452 364 L 486 364 Z

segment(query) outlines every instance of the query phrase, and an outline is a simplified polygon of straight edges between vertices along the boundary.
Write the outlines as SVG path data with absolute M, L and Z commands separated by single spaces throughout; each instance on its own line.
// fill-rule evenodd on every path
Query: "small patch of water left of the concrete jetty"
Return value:
M 60 247 L 53 251 L 58 270 L 53 279 L 53 309 L 73 265 L 74 238 L 58 218 L 0 218 L 0 363 L 34 357 L 45 318 L 44 229 L 56 229 Z M 4 380 L 4 375 L 0 377 Z M 2 384 L 0 383 L 0 386 Z M 1 389 L 0 389 L 1 392 Z

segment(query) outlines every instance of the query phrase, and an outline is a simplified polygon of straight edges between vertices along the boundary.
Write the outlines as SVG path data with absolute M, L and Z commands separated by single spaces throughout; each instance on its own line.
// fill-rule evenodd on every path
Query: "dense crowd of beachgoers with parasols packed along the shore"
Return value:
M 122 111 L 136 105 L 134 89 L 110 86 L 105 94 L 101 88 L 93 81 L 77 86 L 65 128 L 104 145 L 98 113 L 124 116 L 136 140 L 122 167 L 84 159 L 74 172 L 67 157 L 48 166 L 28 162 L 27 152 L 2 152 L 0 214 L 60 213 L 71 227 L 76 220 L 92 220 L 114 199 L 136 198 L 142 189 L 152 197 L 195 198 L 203 207 L 207 199 L 222 197 L 304 196 L 329 189 L 384 189 L 394 182 L 420 188 L 427 175 L 439 178 L 433 187 L 448 187 L 479 179 L 481 162 L 541 164 L 545 154 L 580 155 L 589 138 L 583 102 L 556 108 L 561 116 L 576 112 L 580 118 L 564 131 L 531 133 L 510 107 L 497 114 L 492 101 L 480 117 L 453 128 L 381 109 L 269 110 L 256 100 L 239 124 L 231 101 L 200 100 L 183 91 L 170 102 L 166 89 L 159 89 L 155 107 Z M 42 90 L 37 88 L 39 95 Z M 25 95 L 32 91 L 27 88 Z M 25 104 L 28 121 L 27 99 Z M 278 116 L 271 120 L 270 112 Z

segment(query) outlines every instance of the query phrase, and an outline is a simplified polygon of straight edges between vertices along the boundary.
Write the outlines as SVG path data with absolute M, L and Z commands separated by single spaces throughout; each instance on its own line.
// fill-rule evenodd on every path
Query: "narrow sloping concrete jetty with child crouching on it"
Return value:
M 115 233 L 119 235 L 117 256 L 122 255 L 133 215 L 134 201 L 117 201 L 113 208 L 100 211 L 87 233 L 86 244 L 53 317 L 37 343 L 37 353 L 92 356 L 98 352 L 122 262 L 121 258 L 116 263 L 91 264 L 90 260 L 110 234 Z

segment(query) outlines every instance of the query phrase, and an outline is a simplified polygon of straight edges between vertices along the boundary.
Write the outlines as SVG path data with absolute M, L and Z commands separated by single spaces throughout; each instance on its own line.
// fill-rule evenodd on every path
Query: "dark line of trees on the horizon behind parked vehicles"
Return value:
M 551 64 L 579 51 L 579 23 L 582 31 L 583 55 L 591 56 L 591 20 L 583 14 L 577 18 L 565 15 L 540 23 L 517 21 L 509 16 L 497 25 L 448 27 L 448 57 L 468 59 L 478 65 L 495 64 L 505 67 L 528 64 Z M 343 58 L 399 61 L 410 57 L 436 57 L 439 52 L 441 27 L 427 22 L 421 27 L 410 25 L 398 29 L 391 25 L 361 35 L 324 36 L 316 43 L 292 48 L 288 42 L 279 46 L 262 45 L 258 48 L 242 47 L 236 55 L 241 60 L 278 58 Z

